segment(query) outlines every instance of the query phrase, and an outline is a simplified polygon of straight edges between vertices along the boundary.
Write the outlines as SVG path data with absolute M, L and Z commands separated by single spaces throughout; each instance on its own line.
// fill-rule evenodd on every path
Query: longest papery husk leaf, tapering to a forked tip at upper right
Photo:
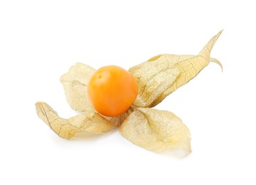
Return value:
M 217 59 L 210 58 L 210 51 L 221 33 L 222 31 L 211 38 L 198 56 L 158 55 L 130 68 L 129 71 L 139 86 L 138 98 L 134 105 L 138 107 L 158 105 L 166 96 L 198 75 L 210 60 L 222 67 Z

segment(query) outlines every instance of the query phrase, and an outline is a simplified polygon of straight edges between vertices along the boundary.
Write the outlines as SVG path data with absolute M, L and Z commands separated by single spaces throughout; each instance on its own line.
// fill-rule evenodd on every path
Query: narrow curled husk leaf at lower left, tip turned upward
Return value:
M 36 103 L 36 112 L 46 125 L 66 139 L 71 139 L 78 132 L 103 133 L 116 128 L 97 112 L 84 112 L 81 115 L 63 119 L 58 117 L 57 112 L 45 102 Z

